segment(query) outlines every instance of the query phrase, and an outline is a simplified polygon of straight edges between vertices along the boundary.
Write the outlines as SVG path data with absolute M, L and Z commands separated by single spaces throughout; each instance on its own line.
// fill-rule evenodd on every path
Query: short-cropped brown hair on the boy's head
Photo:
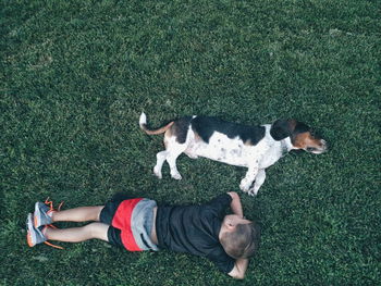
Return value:
M 232 258 L 249 258 L 258 249 L 259 237 L 260 228 L 258 224 L 254 222 L 237 224 L 234 232 L 223 234 L 221 245 Z

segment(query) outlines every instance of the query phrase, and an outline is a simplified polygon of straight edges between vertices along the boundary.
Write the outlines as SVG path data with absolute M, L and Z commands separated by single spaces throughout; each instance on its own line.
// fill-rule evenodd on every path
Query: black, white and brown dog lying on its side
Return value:
M 266 178 L 265 170 L 286 152 L 303 149 L 320 154 L 327 151 L 327 142 L 317 138 L 311 129 L 296 120 L 278 120 L 273 124 L 248 126 L 209 116 L 185 116 L 158 128 L 147 127 L 142 113 L 139 125 L 148 135 L 164 134 L 165 150 L 157 153 L 153 173 L 159 178 L 167 160 L 171 176 L 181 179 L 176 158 L 181 153 L 196 159 L 214 161 L 248 169 L 239 188 L 255 196 Z M 254 184 L 253 184 L 254 183 Z

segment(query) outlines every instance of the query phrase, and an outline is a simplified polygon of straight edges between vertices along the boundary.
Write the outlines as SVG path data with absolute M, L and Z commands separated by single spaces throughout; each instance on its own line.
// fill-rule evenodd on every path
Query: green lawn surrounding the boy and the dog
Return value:
M 24 1 L 0 10 L 1 285 L 378 285 L 380 2 Z M 28 248 L 34 202 L 103 203 L 116 191 L 199 203 L 244 169 L 182 156 L 152 176 L 160 136 L 188 114 L 295 117 L 330 144 L 268 170 L 246 216 L 261 248 L 237 283 L 206 259 L 101 241 Z M 70 226 L 71 224 L 61 224 Z

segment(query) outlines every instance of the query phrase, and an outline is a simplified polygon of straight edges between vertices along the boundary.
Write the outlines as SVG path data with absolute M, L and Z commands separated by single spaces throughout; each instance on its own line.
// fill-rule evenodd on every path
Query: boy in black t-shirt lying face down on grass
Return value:
M 230 206 L 233 214 L 224 215 Z M 59 229 L 54 222 L 87 222 Z M 57 211 L 36 202 L 27 219 L 29 247 L 47 240 L 79 243 L 102 239 L 130 251 L 170 249 L 210 259 L 223 273 L 244 278 L 248 258 L 259 243 L 259 227 L 244 219 L 236 192 L 220 195 L 201 206 L 159 206 L 146 198 L 116 194 L 106 206 Z

